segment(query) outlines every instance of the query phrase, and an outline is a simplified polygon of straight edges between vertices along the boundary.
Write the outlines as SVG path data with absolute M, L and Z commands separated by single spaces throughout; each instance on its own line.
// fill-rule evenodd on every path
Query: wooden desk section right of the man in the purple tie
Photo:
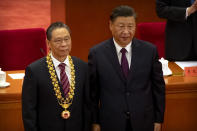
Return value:
M 197 77 L 184 77 L 170 62 L 172 76 L 165 77 L 166 110 L 162 131 L 197 131 Z

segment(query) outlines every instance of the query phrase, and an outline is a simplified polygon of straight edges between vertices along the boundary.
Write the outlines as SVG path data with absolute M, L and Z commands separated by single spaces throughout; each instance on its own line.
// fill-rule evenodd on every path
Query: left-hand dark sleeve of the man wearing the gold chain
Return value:
M 22 117 L 25 131 L 37 131 L 37 87 L 34 75 L 26 68 L 22 87 Z

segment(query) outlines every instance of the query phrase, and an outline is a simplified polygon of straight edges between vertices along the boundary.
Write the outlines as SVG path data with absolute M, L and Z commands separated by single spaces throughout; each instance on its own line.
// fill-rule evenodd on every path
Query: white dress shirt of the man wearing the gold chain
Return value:
M 58 66 L 59 66 L 60 63 L 65 63 L 66 64 L 65 72 L 66 72 L 66 75 L 67 75 L 69 83 L 70 83 L 70 78 L 71 78 L 70 71 L 71 71 L 71 69 L 70 69 L 70 63 L 69 63 L 68 57 L 66 57 L 64 62 L 60 62 L 51 53 L 51 58 L 52 58 L 52 61 L 53 61 L 54 67 L 55 67 L 55 71 L 57 73 L 57 77 L 59 78 L 59 80 L 60 80 L 60 68 Z

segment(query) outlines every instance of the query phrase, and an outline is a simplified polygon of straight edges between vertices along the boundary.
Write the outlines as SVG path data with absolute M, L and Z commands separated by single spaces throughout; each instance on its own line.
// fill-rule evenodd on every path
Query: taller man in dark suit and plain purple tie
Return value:
M 89 52 L 93 130 L 160 131 L 165 83 L 154 45 L 134 37 L 135 12 L 119 6 L 110 16 L 113 38 Z

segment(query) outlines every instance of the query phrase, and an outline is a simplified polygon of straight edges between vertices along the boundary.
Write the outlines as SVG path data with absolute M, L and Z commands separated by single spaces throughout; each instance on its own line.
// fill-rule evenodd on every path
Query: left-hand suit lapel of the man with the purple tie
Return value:
M 115 45 L 114 45 L 114 42 L 113 42 L 113 39 L 110 39 L 108 41 L 108 43 L 106 43 L 106 56 L 107 58 L 109 59 L 109 61 L 111 62 L 112 66 L 114 67 L 116 73 L 119 75 L 119 77 L 123 80 L 123 81 L 126 81 L 124 76 L 123 76 L 123 73 L 122 73 L 122 70 L 121 70 L 121 67 L 120 67 L 120 63 L 118 61 L 118 56 L 117 56 L 117 53 L 116 53 L 116 48 L 115 48 Z

